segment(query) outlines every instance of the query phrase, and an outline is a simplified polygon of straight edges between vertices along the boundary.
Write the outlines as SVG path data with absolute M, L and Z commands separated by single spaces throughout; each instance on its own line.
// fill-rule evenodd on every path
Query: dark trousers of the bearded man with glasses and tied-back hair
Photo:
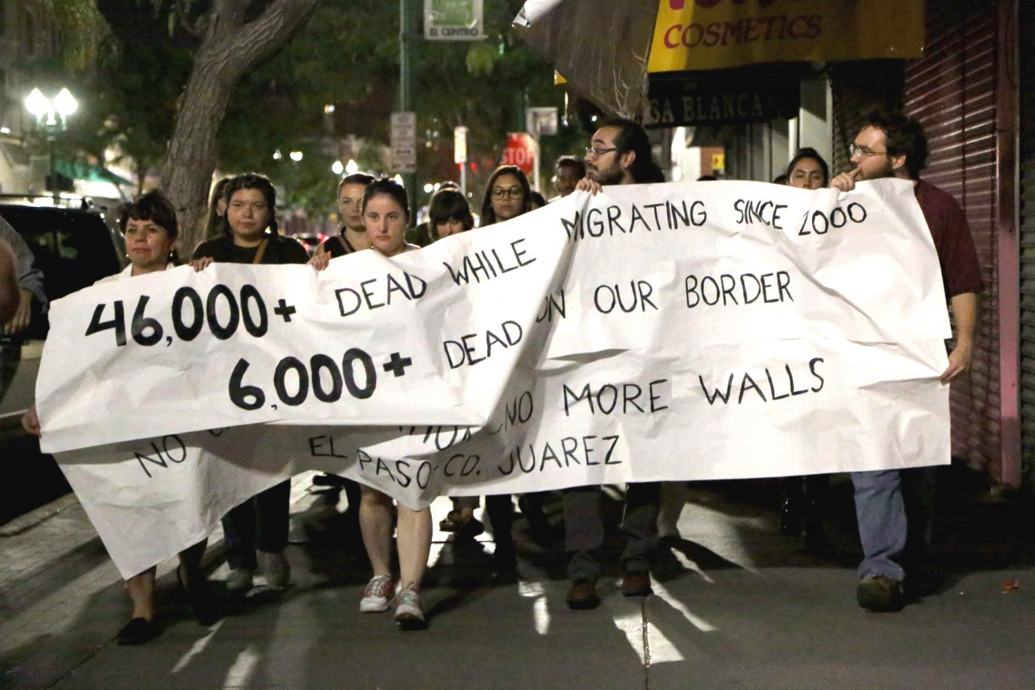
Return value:
M 599 486 L 578 486 L 564 490 L 564 546 L 570 553 L 568 577 L 571 580 L 600 576 L 600 548 L 603 546 L 603 516 L 600 513 L 602 491 Z M 661 503 L 660 482 L 628 484 L 625 490 L 625 514 L 622 533 L 626 537 L 622 551 L 622 570 L 650 570 L 651 556 L 657 543 L 657 511 Z

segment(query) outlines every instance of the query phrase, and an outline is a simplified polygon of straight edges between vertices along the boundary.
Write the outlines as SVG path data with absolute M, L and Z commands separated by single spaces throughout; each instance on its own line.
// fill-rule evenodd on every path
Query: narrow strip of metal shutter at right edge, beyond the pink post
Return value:
M 1035 6 L 1021 3 L 1021 36 L 1035 31 Z M 1021 43 L 1021 448 L 1025 480 L 1035 458 L 1035 46 Z

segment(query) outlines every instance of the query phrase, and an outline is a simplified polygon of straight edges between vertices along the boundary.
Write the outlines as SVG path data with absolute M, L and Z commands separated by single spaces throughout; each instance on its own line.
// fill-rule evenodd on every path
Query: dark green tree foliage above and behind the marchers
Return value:
M 252 4 L 259 7 L 264 1 Z M 196 24 L 207 3 L 51 2 L 62 5 L 69 22 L 86 22 L 92 6 L 107 21 L 106 43 L 111 47 L 97 54 L 91 74 L 80 74 L 89 86 L 77 91 L 84 108 L 71 139 L 98 156 L 117 142 L 131 167 L 154 170 L 172 136 L 177 98 L 198 44 L 185 27 Z M 469 159 L 478 171 L 468 175 L 468 183 L 476 192 L 473 206 L 478 206 L 480 185 L 498 163 L 506 132 L 524 129 L 525 107 L 563 107 L 563 91 L 553 85 L 551 67 L 510 28 L 521 4 L 485 0 L 484 41 L 416 41 L 418 186 L 459 179 L 452 130 L 466 125 Z M 85 6 L 73 10 L 78 5 Z M 362 169 L 387 172 L 381 170 L 382 150 L 388 144 L 389 115 L 398 102 L 398 21 L 394 1 L 322 0 L 293 40 L 234 89 L 219 133 L 219 171 L 270 175 L 286 191 L 285 201 L 304 207 L 310 217 L 332 210 L 336 180 L 330 166 L 346 153 L 348 136 L 365 142 L 348 153 Z M 472 55 L 480 56 L 475 69 Z M 331 115 L 324 113 L 328 103 L 335 107 Z M 544 138 L 544 193 L 550 196 L 552 160 L 576 151 L 584 139 L 576 126 Z M 279 161 L 273 159 L 276 150 L 284 156 Z M 293 150 L 304 153 L 301 161 L 288 158 Z M 415 201 L 419 206 L 426 198 L 421 193 Z

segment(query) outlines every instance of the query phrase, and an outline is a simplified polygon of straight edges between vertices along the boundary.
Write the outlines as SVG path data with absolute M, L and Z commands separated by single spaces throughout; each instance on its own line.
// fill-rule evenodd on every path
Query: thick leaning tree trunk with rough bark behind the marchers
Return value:
M 213 2 L 159 176 L 162 191 L 176 206 L 184 256 L 189 257 L 205 239 L 219 126 L 234 88 L 249 69 L 291 39 L 316 3 L 277 0 L 258 19 L 241 24 L 234 0 Z M 247 132 L 235 136 L 247 137 Z

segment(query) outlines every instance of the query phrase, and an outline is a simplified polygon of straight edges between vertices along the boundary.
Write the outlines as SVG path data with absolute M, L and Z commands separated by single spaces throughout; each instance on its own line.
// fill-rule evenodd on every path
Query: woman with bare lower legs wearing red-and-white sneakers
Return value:
M 371 240 L 371 248 L 385 257 L 395 257 L 411 249 L 419 249 L 406 242 L 406 227 L 410 221 L 410 202 L 402 185 L 388 180 L 378 180 L 366 187 L 362 201 L 363 226 Z M 330 257 L 318 253 L 309 261 L 317 270 L 327 268 Z M 404 630 L 422 630 L 427 627 L 420 604 L 420 583 L 427 569 L 432 550 L 432 510 L 410 510 L 398 506 L 397 543 L 400 579 L 396 583 L 391 571 L 392 500 L 385 493 L 362 486 L 363 498 L 359 504 L 359 527 L 363 544 L 371 559 L 374 576 L 366 583 L 359 610 L 364 613 L 386 611 L 395 601 L 395 623 Z

